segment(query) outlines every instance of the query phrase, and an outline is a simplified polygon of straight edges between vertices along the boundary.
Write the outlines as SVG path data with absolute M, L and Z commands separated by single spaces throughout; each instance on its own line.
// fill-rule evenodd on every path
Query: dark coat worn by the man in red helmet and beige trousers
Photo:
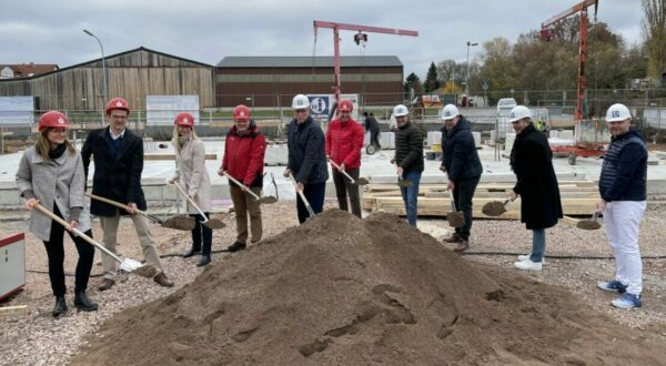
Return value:
M 141 172 L 143 171 L 143 139 L 125 129 L 118 152 L 113 149 L 109 128 L 91 131 L 81 149 L 83 170 L 88 177 L 90 155 L 94 159 L 92 194 L 120 203 L 135 203 L 139 210 L 145 211 L 145 197 L 141 190 Z M 97 216 L 114 216 L 128 214 L 110 204 L 92 200 L 90 213 Z

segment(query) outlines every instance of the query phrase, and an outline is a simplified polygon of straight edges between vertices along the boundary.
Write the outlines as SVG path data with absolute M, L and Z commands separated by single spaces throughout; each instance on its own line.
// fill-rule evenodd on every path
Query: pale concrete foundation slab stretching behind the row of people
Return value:
M 218 156 L 216 160 L 206 160 L 205 166 L 213 185 L 212 196 L 213 204 L 216 206 L 215 211 L 222 211 L 231 204 L 229 182 L 225 177 L 218 175 L 218 169 L 221 165 L 221 159 L 224 151 L 224 142 L 220 139 L 205 139 L 204 144 L 206 154 L 214 154 Z M 172 148 L 168 143 L 160 143 L 158 146 L 162 148 L 152 149 L 152 152 L 148 154 L 173 153 Z M 502 157 L 500 161 L 494 161 L 494 149 L 490 146 L 483 146 L 478 152 L 484 166 L 482 182 L 515 181 L 508 165 L 508 159 Z M 393 182 L 393 180 L 395 180 L 395 170 L 390 163 L 393 154 L 393 150 L 384 150 L 374 155 L 366 155 L 365 152 L 363 152 L 361 175 L 367 177 L 371 182 L 381 182 L 384 180 Z M 19 166 L 21 156 L 22 152 L 0 155 L 0 207 L 18 207 L 22 204 L 14 181 L 16 171 Z M 569 165 L 566 157 L 557 157 L 554 160 L 555 172 L 559 180 L 598 181 L 603 160 L 595 157 L 578 157 L 576 162 L 576 165 Z M 438 170 L 440 164 L 440 161 L 425 161 L 423 182 L 445 182 L 445 175 Z M 147 160 L 144 162 L 142 184 L 147 199 L 151 201 L 151 204 L 158 204 L 159 202 L 176 202 L 180 200 L 175 189 L 167 184 L 167 180 L 172 176 L 174 169 L 175 163 L 173 161 Z M 93 171 L 94 164 L 91 165 L 91 174 Z M 265 166 L 264 171 L 266 172 L 264 179 L 264 192 L 266 195 L 276 195 L 280 200 L 295 200 L 292 183 L 282 176 L 284 166 Z M 278 192 L 275 192 L 275 187 L 271 183 L 271 175 L 275 179 Z M 648 194 L 666 194 L 666 165 L 658 164 L 648 166 Z M 331 199 L 335 197 L 335 190 L 331 179 L 326 184 L 326 196 Z

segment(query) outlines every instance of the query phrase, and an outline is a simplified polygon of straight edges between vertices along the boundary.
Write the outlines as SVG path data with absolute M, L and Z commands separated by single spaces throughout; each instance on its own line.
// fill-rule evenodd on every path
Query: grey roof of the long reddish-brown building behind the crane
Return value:
M 343 68 L 400 68 L 402 62 L 395 55 L 345 55 L 341 57 Z M 330 55 L 283 55 L 283 57 L 225 57 L 218 68 L 333 68 Z

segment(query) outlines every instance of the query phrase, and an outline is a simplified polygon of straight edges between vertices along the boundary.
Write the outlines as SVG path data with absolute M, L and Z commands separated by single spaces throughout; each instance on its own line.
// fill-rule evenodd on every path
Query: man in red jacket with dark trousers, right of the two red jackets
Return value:
M 354 105 L 349 100 L 340 101 L 340 115 L 331 122 L 326 131 L 326 159 L 331 164 L 333 183 L 337 194 L 337 205 L 342 211 L 347 209 L 347 192 L 352 213 L 361 217 L 361 200 L 359 186 L 352 184 L 341 172 L 346 172 L 354 180 L 359 179 L 361 170 L 361 149 L 363 148 L 363 128 L 351 116 Z

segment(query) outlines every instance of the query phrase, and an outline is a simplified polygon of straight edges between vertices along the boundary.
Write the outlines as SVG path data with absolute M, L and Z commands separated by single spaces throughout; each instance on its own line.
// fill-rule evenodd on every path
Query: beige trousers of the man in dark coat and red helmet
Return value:
M 130 215 L 130 217 L 134 223 L 134 228 L 137 230 L 137 235 L 139 236 L 139 242 L 141 243 L 141 250 L 143 251 L 145 264 L 153 266 L 155 270 L 158 270 L 158 273 L 161 273 L 162 263 L 160 262 L 160 255 L 155 248 L 155 242 L 150 233 L 150 227 L 148 226 L 148 218 L 139 214 Z M 102 224 L 102 231 L 104 232 L 102 245 L 111 251 L 111 253 L 118 254 L 115 251 L 115 244 L 118 225 L 120 223 L 120 214 L 115 213 L 115 216 L 112 217 L 100 216 L 100 223 Z M 104 278 L 114 279 L 115 275 L 118 274 L 119 265 L 120 263 L 118 263 L 111 256 L 102 253 L 102 268 L 104 271 Z

